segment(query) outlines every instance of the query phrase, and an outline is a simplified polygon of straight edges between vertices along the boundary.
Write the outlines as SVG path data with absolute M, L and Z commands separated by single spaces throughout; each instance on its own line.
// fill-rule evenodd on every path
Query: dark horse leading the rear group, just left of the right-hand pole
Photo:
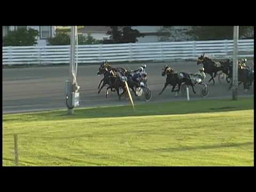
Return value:
M 204 54 L 201 54 L 201 56 L 198 57 L 197 59 L 197 65 L 201 63 L 203 63 L 204 65 L 204 73 L 207 73 L 212 77 L 209 80 L 209 82 L 213 81 L 213 85 L 214 85 L 215 84 L 214 78 L 217 76 L 217 72 L 221 70 L 221 66 L 223 65 L 223 62 L 222 61 L 214 62 L 210 58 L 205 57 Z

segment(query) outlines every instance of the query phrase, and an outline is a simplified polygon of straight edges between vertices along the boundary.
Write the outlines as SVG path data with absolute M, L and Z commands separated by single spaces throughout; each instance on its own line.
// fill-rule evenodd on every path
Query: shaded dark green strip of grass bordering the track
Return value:
M 151 116 L 151 115 L 174 115 L 193 114 L 234 110 L 254 109 L 253 97 L 241 98 L 238 101 L 231 99 L 178 101 L 164 103 L 143 103 L 135 106 L 116 107 L 96 107 L 75 109 L 73 115 L 68 115 L 67 110 L 45 111 L 27 114 L 3 115 L 3 122 L 17 121 L 51 121 L 62 119 L 84 119 L 84 118 L 104 118 L 104 117 L 131 117 L 131 116 Z

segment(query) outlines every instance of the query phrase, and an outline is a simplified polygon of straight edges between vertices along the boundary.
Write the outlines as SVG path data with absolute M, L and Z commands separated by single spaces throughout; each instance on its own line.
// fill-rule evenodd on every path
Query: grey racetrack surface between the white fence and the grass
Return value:
M 248 62 L 249 65 L 251 61 Z M 142 63 L 112 64 L 115 67 L 126 69 L 138 68 Z M 158 95 L 163 89 L 165 77 L 161 76 L 162 68 L 165 64 L 177 71 L 195 73 L 198 69 L 196 62 L 164 62 L 147 63 L 148 87 L 153 91 L 153 99 L 150 102 L 167 102 L 186 100 L 181 93 L 175 97 L 171 93 L 171 86 L 166 87 L 165 91 Z M 251 65 L 250 65 L 251 66 Z M 100 107 L 127 105 L 129 100 L 122 98 L 118 100 L 115 92 L 110 92 L 110 98 L 106 99 L 106 88 L 98 94 L 98 84 L 103 76 L 97 76 L 99 65 L 78 65 L 77 82 L 81 86 L 80 107 Z M 69 66 L 53 67 L 28 67 L 28 68 L 4 68 L 3 69 L 3 113 L 20 113 L 25 111 L 40 111 L 50 109 L 65 109 L 65 81 L 69 79 Z M 210 76 L 206 74 L 206 82 Z M 231 98 L 232 91 L 228 90 L 228 84 L 220 84 L 218 76 L 215 77 L 215 85 L 208 83 L 210 88 L 209 97 Z M 190 100 L 203 99 L 200 96 L 199 85 L 196 85 L 194 94 L 190 88 Z M 132 94 L 133 95 L 133 94 Z M 238 89 L 238 97 L 253 95 L 250 90 L 243 92 L 243 85 Z M 143 98 L 134 98 L 134 102 L 146 102 Z

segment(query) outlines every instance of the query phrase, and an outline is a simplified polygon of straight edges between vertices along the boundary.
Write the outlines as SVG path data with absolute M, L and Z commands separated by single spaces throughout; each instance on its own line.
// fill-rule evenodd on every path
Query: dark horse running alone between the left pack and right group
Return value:
M 180 73 L 175 73 L 174 69 L 170 68 L 169 66 L 165 65 L 164 68 L 162 69 L 162 76 L 167 76 L 166 77 L 166 82 L 164 84 L 163 90 L 159 93 L 162 94 L 165 88 L 168 85 L 172 85 L 172 92 L 177 92 L 177 95 L 180 92 L 180 87 L 181 84 L 184 82 L 186 85 L 190 85 L 192 87 L 193 92 L 196 94 L 194 90 L 194 85 L 191 82 L 191 79 L 189 78 L 189 74 L 180 72 Z M 174 90 L 175 86 L 178 84 L 178 89 Z

